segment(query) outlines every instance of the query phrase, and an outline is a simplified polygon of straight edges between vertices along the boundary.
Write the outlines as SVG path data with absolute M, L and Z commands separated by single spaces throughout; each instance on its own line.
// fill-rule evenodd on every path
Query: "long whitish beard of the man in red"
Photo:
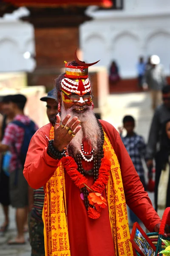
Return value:
M 82 140 L 86 139 L 87 141 L 91 142 L 92 148 L 95 148 L 95 151 L 98 150 L 98 145 L 101 144 L 101 131 L 99 128 L 99 124 L 96 120 L 92 107 L 86 106 L 87 111 L 84 113 L 75 113 L 74 106 L 65 110 L 63 102 L 61 106 L 61 120 L 65 118 L 68 114 L 71 114 L 69 120 L 77 116 L 80 120 L 81 129 L 78 131 L 76 136 L 71 140 L 69 145 L 73 149 L 73 154 L 76 156 L 79 153 L 79 149 L 81 148 Z

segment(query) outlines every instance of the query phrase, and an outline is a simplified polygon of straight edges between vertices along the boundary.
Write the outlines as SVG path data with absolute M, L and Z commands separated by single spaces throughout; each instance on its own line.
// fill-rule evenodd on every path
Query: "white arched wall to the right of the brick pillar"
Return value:
M 125 0 L 122 11 L 87 11 L 94 20 L 80 28 L 83 59 L 109 67 L 116 60 L 122 78 L 136 77 L 140 55 L 157 54 L 170 73 L 170 1 Z

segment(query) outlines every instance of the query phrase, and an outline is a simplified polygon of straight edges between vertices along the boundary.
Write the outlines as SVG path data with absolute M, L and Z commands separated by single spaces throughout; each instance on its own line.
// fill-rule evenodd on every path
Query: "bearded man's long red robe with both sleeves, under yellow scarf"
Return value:
M 108 122 L 102 120 L 100 122 L 119 160 L 126 203 L 152 232 L 161 220 L 153 209 L 147 192 L 144 191 L 119 133 Z M 34 189 L 45 185 L 60 163 L 60 160 L 55 160 L 47 154 L 48 139 L 46 136 L 49 137 L 50 129 L 51 124 L 40 128 L 32 138 L 28 149 L 23 173 L 28 184 Z M 84 160 L 82 160 L 82 165 L 85 170 L 93 168 L 93 163 L 87 163 Z M 91 186 L 93 182 L 93 177 L 88 176 L 88 186 Z M 67 173 L 65 174 L 65 186 L 71 256 L 114 256 L 108 208 L 102 209 L 98 219 L 89 218 L 84 202 L 80 198 L 80 190 Z M 105 191 L 102 196 L 106 198 Z

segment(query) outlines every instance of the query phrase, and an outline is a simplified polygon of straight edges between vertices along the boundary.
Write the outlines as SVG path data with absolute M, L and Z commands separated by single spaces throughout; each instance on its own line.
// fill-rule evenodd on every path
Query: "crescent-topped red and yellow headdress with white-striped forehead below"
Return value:
M 66 94 L 76 93 L 84 95 L 91 91 L 91 83 L 88 78 L 88 67 L 96 64 L 85 63 L 77 58 L 77 51 L 75 51 L 74 59 L 79 66 L 69 65 L 71 62 L 65 62 L 65 78 L 61 81 L 62 90 Z M 72 79 L 76 79 L 73 81 Z

